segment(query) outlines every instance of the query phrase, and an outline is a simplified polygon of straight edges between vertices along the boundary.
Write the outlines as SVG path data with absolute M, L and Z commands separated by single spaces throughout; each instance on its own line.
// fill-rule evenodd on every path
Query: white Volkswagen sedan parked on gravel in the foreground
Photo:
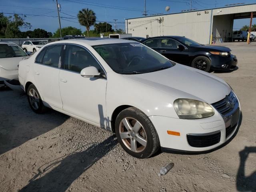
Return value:
M 34 112 L 49 107 L 115 132 L 137 158 L 160 147 L 212 150 L 240 119 L 239 100 L 224 80 L 130 40 L 47 44 L 20 62 L 19 81 Z

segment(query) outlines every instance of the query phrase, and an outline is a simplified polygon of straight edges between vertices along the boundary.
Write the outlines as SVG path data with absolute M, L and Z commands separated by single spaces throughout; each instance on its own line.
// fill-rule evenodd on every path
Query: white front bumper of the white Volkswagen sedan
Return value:
M 214 116 L 203 119 L 178 119 L 164 116 L 150 116 L 165 149 L 186 152 L 203 152 L 212 150 L 226 143 L 236 132 L 240 119 L 240 103 L 236 100 L 233 110 L 222 115 L 214 108 Z M 232 124 L 232 115 L 237 112 L 237 122 Z M 180 136 L 167 134 L 167 130 L 179 132 Z

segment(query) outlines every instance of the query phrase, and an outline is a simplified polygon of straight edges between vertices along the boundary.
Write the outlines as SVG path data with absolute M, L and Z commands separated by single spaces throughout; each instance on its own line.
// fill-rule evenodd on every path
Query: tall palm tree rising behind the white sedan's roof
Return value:
M 80 25 L 85 26 L 87 30 L 87 36 L 89 37 L 90 26 L 96 22 L 96 16 L 91 9 L 82 9 L 77 14 Z

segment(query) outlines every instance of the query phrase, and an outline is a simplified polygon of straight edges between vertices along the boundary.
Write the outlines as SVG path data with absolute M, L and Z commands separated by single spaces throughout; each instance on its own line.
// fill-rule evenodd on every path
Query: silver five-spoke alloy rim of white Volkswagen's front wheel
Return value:
M 134 118 L 123 118 L 119 124 L 120 138 L 132 152 L 142 152 L 147 145 L 146 132 L 140 122 Z

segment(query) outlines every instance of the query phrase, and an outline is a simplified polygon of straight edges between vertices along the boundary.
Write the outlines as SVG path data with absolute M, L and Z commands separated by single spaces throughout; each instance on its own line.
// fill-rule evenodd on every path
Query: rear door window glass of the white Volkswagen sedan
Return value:
M 62 45 L 52 45 L 48 46 L 43 59 L 43 64 L 58 67 L 59 60 L 60 60 L 60 52 L 61 52 Z

